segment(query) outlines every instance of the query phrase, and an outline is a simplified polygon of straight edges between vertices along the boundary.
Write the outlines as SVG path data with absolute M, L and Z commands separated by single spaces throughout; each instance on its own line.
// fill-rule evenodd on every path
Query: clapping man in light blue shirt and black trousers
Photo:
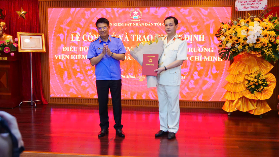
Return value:
M 108 134 L 108 91 L 110 90 L 114 128 L 116 135 L 125 137 L 121 124 L 121 69 L 120 61 L 125 59 L 126 49 L 115 35 L 109 35 L 110 23 L 101 17 L 96 21 L 99 38 L 94 39 L 89 46 L 87 59 L 95 65 L 96 88 L 99 101 L 101 131 L 98 137 Z

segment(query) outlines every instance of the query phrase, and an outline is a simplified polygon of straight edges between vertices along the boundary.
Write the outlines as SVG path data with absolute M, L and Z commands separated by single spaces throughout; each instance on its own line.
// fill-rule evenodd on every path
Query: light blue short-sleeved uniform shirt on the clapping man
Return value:
M 108 42 L 104 42 L 99 36 L 97 40 L 90 43 L 87 59 L 99 56 L 103 51 L 103 44 L 108 45 L 108 48 L 112 53 L 126 53 L 126 49 L 119 38 L 109 35 Z M 120 80 L 120 61 L 105 54 L 101 61 L 95 65 L 95 75 L 96 80 Z

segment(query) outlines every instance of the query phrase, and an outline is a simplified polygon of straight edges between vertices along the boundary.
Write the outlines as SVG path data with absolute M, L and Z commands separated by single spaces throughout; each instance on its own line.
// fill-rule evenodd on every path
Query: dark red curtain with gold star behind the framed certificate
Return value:
M 17 37 L 17 32 L 40 33 L 39 20 L 39 2 L 38 0 L 4 0 L 0 1 L 0 8 L 5 8 L 6 17 L 0 21 L 6 22 L 6 33 Z M 25 15 L 26 19 L 22 17 L 18 19 L 16 11 L 24 11 L 28 13 Z M 30 53 L 15 53 L 21 56 L 21 71 L 22 86 L 19 88 L 22 91 L 23 100 L 31 99 L 31 75 L 30 75 Z M 42 104 L 48 104 L 44 97 L 42 89 L 42 75 L 41 75 L 41 54 L 32 53 L 32 68 L 33 68 L 33 100 L 42 99 Z M 40 104 L 40 102 L 38 102 Z

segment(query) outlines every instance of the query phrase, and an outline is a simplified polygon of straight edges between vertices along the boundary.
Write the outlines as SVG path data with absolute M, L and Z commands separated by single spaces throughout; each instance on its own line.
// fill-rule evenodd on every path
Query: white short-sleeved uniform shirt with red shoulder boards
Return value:
M 176 34 L 169 43 L 167 36 L 163 36 L 164 51 L 159 59 L 159 67 L 164 67 L 176 60 L 187 59 L 187 42 L 183 38 L 178 38 Z M 158 83 L 161 85 L 180 85 L 181 83 L 181 66 L 167 69 L 157 75 Z

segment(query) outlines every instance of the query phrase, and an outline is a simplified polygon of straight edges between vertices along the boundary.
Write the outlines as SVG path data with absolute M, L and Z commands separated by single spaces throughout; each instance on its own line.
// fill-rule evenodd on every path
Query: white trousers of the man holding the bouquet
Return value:
M 179 126 L 180 85 L 157 85 L 160 130 L 177 133 Z

